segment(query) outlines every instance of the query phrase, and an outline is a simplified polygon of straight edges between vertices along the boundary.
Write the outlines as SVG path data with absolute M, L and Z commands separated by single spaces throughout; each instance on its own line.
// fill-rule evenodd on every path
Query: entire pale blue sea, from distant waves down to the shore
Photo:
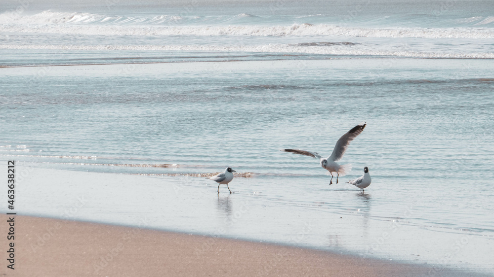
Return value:
M 218 218 L 254 197 L 228 237 L 492 273 L 493 59 L 492 1 L 9 1 L 0 160 L 176 180 Z M 364 121 L 338 184 L 279 151 L 329 155 Z M 343 184 L 364 166 L 365 193 Z M 217 227 L 181 215 L 154 228 Z M 307 220 L 331 231 L 287 239 Z

